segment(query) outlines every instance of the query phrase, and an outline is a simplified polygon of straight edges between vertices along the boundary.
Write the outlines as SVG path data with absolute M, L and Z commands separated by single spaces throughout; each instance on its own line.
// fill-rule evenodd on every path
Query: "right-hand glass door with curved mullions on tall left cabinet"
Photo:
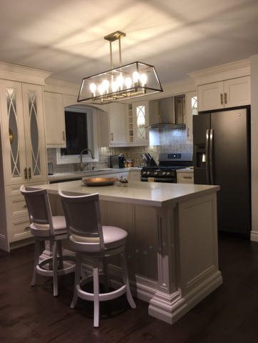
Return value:
M 41 86 L 22 84 L 24 99 L 24 132 L 29 182 L 43 182 L 46 172 L 46 141 Z

